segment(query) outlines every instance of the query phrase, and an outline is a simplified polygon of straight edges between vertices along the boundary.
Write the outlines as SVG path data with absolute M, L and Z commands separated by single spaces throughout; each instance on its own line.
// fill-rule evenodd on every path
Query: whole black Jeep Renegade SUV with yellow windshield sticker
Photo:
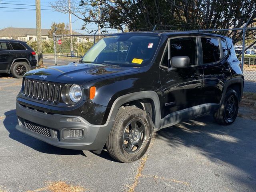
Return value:
M 152 132 L 213 114 L 232 124 L 244 77 L 232 40 L 192 32 L 108 35 L 80 60 L 27 72 L 16 128 L 54 146 L 132 162 Z

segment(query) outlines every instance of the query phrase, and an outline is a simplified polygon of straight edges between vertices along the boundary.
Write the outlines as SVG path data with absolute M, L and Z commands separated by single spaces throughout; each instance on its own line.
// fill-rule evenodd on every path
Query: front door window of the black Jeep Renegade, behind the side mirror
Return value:
M 189 65 L 196 65 L 196 38 L 182 37 L 170 40 L 170 58 L 188 56 Z

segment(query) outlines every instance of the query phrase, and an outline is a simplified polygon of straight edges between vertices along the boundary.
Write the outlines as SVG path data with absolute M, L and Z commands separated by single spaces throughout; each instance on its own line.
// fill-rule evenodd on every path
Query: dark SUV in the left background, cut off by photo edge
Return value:
M 22 78 L 29 70 L 36 68 L 36 52 L 19 40 L 0 40 L 0 73 Z

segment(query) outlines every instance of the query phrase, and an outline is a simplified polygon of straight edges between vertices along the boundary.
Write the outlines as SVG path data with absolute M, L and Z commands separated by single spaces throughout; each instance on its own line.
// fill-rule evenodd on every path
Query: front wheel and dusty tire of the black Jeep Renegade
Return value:
M 123 163 L 136 161 L 146 153 L 151 133 L 152 124 L 146 112 L 137 107 L 120 108 L 106 141 L 108 153 Z

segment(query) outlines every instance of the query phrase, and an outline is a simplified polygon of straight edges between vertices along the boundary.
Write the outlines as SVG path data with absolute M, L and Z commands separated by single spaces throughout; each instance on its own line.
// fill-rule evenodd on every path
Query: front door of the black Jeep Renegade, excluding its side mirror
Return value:
M 168 114 L 202 104 L 203 69 L 196 36 L 170 38 L 160 63 L 162 84 L 162 118 Z M 188 56 L 188 68 L 172 68 L 173 56 Z M 196 115 L 196 114 L 192 114 Z

